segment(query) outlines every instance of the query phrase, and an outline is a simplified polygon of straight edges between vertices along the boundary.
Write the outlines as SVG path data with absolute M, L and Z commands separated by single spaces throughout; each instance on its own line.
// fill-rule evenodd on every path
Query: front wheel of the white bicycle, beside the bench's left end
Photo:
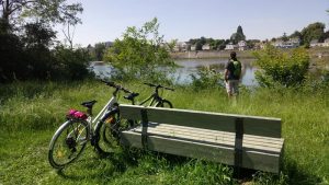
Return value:
M 118 113 L 110 113 L 95 128 L 94 147 L 100 154 L 109 155 L 118 146 Z

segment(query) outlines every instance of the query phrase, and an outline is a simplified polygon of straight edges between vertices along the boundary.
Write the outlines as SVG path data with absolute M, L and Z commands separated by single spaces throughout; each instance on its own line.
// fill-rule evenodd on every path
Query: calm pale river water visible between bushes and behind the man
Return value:
M 224 72 L 225 63 L 228 59 L 179 59 L 174 62 L 180 66 L 174 73 L 174 81 L 180 84 L 191 83 L 191 74 L 196 74 L 197 69 L 201 67 L 207 67 L 215 69 L 217 72 Z M 256 67 L 252 66 L 253 59 L 240 59 L 242 63 L 242 79 L 241 83 L 247 86 L 257 85 L 254 80 Z M 93 61 L 91 62 L 92 70 L 97 76 L 111 77 L 111 70 L 113 69 L 110 65 Z

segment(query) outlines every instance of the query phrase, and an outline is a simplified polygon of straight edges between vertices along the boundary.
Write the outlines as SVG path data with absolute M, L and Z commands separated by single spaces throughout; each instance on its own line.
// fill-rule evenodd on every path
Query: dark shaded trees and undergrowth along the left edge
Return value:
M 79 79 L 88 74 L 87 50 L 56 42 L 55 24 L 81 23 L 81 3 L 66 0 L 0 0 L 0 82 Z M 71 34 L 67 31 L 67 36 Z M 71 37 L 68 37 L 71 38 Z

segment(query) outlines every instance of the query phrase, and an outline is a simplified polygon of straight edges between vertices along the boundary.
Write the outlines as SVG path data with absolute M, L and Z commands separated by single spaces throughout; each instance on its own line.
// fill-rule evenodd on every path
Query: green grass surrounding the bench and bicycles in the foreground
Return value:
M 141 92 L 151 89 L 125 83 Z M 239 184 L 232 170 L 219 163 L 155 152 L 120 150 L 100 158 L 88 147 L 81 158 L 61 172 L 47 161 L 49 140 L 66 112 L 84 100 L 98 100 L 95 112 L 112 90 L 94 81 L 25 82 L 0 85 L 0 184 Z M 329 184 L 328 90 L 242 91 L 236 104 L 223 89 L 194 92 L 177 86 L 163 92 L 178 108 L 280 117 L 285 139 L 282 173 L 258 172 L 253 184 Z M 122 100 L 122 99 L 121 99 Z M 243 182 L 242 181 L 242 182 Z

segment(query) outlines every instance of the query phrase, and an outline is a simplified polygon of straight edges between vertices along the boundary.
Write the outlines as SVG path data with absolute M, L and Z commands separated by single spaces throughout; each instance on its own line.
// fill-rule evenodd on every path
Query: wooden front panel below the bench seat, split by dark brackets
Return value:
M 148 137 L 148 149 L 170 154 L 197 158 L 234 165 L 234 147 L 193 142 L 161 136 Z M 123 131 L 121 142 L 124 146 L 143 148 L 140 134 Z M 280 154 L 264 153 L 253 150 L 242 151 L 242 167 L 265 172 L 279 172 Z

